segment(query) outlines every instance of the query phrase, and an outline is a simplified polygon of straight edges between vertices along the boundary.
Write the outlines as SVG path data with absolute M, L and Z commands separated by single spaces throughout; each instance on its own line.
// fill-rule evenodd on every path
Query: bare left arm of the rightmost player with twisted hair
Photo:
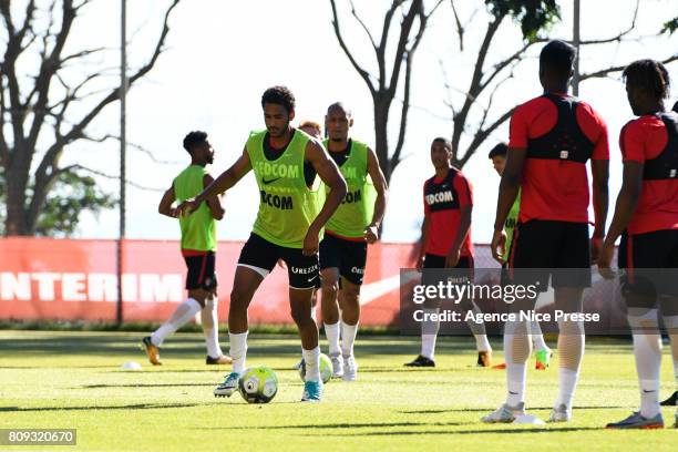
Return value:
M 606 278 L 614 276 L 608 269 L 615 250 L 615 242 L 626 229 L 626 226 L 628 226 L 628 222 L 640 198 L 640 192 L 643 191 L 643 166 L 639 162 L 624 162 L 622 189 L 619 191 L 619 196 L 617 196 L 613 222 L 603 243 L 600 256 L 598 256 L 598 268 Z

